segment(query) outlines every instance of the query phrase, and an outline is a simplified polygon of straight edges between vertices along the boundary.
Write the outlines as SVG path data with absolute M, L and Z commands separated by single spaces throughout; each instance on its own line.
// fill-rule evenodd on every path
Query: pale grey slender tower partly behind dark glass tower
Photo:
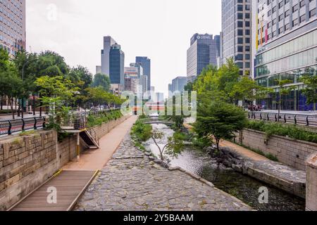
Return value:
M 101 73 L 104 75 L 109 75 L 110 73 L 110 49 L 113 44 L 116 44 L 116 41 L 112 37 L 104 37 L 104 49 L 101 49 L 101 66 L 97 65 L 96 67 L 99 71 L 101 67 Z

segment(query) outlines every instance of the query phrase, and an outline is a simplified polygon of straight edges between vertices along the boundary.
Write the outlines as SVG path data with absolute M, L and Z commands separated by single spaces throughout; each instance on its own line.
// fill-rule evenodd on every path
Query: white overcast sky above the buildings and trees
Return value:
M 219 34 L 220 0 L 27 0 L 27 51 L 56 51 L 70 66 L 95 73 L 103 37 L 125 52 L 151 58 L 152 85 L 168 93 L 168 83 L 186 76 L 186 51 L 194 33 Z

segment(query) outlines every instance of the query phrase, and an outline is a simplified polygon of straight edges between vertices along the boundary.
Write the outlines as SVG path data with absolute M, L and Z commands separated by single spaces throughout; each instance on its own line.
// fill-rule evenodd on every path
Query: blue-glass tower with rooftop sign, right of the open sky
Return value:
M 213 39 L 211 34 L 194 34 L 187 50 L 187 77 L 197 77 L 207 65 L 217 65 L 219 51 L 219 35 Z

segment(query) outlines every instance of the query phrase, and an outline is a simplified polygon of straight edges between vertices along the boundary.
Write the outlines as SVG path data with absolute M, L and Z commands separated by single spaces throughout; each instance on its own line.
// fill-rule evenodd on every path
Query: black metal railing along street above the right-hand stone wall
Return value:
M 250 120 L 263 120 L 268 122 L 317 127 L 317 115 L 249 112 L 248 117 Z

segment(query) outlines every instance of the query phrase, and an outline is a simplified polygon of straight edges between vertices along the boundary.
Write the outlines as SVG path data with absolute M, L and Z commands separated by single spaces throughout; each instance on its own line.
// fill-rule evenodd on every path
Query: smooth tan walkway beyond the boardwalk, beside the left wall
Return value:
M 79 162 L 68 162 L 62 169 L 76 171 L 102 169 L 108 160 L 111 159 L 113 153 L 116 152 L 118 146 L 120 146 L 120 143 L 123 141 L 125 135 L 128 134 L 136 120 L 136 116 L 125 120 L 125 122 L 119 124 L 99 140 L 99 149 L 85 150 L 80 154 Z

